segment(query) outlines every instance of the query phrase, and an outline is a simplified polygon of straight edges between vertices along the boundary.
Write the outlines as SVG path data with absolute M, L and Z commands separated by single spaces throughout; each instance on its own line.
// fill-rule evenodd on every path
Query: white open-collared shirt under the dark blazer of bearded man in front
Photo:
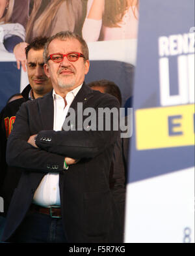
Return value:
M 66 94 L 66 106 L 64 99 L 55 93 L 55 90 L 53 89 L 54 131 L 62 131 L 62 125 L 66 118 L 68 109 L 70 108 L 70 104 L 72 104 L 72 101 L 77 95 L 79 89 L 81 89 L 81 86 L 78 86 Z M 64 157 L 66 157 L 66 155 L 64 155 Z M 34 193 L 33 203 L 43 207 L 60 206 L 59 173 L 49 172 L 48 174 L 45 174 Z

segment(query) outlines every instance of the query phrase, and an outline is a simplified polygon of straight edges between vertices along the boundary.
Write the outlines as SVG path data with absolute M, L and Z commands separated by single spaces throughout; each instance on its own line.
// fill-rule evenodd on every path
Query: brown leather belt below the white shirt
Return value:
M 62 217 L 61 208 L 58 206 L 42 207 L 36 204 L 31 204 L 31 212 L 39 212 L 40 214 L 46 214 L 50 217 Z

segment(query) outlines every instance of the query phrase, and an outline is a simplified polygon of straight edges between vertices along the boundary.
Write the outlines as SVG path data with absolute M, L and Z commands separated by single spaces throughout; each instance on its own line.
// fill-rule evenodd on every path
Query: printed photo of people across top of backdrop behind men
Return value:
M 86 42 L 136 39 L 138 0 L 0 1 L 1 50 L 14 52 L 25 68 L 24 49 L 34 37 L 74 31 Z M 13 22 L 13 23 L 12 23 Z M 11 40 L 11 42 L 10 42 Z M 10 46 L 11 44 L 11 46 Z

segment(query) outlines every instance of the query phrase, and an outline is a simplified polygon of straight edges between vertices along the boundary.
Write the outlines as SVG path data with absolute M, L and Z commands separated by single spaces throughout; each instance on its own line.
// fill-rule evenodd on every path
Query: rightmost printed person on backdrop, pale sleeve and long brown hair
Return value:
M 86 41 L 135 39 L 138 0 L 88 0 L 83 38 Z

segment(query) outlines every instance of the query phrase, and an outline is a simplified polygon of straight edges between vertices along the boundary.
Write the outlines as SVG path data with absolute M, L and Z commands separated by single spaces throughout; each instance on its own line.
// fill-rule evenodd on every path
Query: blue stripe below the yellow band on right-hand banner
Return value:
M 130 152 L 127 183 L 194 166 L 194 146 L 138 151 L 135 149 L 134 136 L 131 138 Z

